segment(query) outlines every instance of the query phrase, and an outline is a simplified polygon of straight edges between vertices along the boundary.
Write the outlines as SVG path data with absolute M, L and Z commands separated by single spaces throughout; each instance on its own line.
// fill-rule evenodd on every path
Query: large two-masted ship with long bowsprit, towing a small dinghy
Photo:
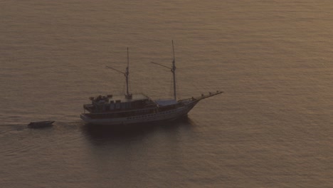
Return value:
M 174 55 L 174 41 L 171 42 Z M 200 100 L 223 93 L 223 91 L 216 90 L 214 92 L 201 94 L 197 97 L 177 100 L 175 57 L 173 58 L 171 67 L 164 66 L 160 63 L 154 64 L 171 70 L 173 75 L 174 98 L 153 100 L 144 93 L 132 94 L 129 92 L 129 53 L 127 48 L 127 68 L 125 72 L 106 66 L 106 68 L 110 68 L 125 75 L 126 93 L 123 95 L 99 95 L 97 97 L 90 97 L 90 103 L 83 105 L 84 113 L 80 115 L 81 119 L 93 125 L 131 125 L 176 120 L 186 116 Z

